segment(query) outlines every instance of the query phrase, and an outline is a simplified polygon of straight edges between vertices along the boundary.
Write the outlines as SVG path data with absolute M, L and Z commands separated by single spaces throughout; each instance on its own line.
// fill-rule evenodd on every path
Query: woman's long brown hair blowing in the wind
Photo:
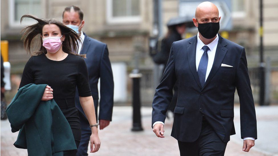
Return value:
M 65 53 L 78 55 L 83 58 L 86 58 L 86 54 L 79 55 L 78 52 L 78 42 L 81 42 L 80 37 L 76 34 L 76 32 L 67 26 L 65 26 L 63 23 L 59 22 L 55 19 L 40 19 L 32 15 L 23 15 L 20 19 L 20 22 L 22 22 L 23 18 L 32 18 L 37 21 L 36 24 L 26 26 L 22 32 L 22 40 L 24 41 L 24 48 L 30 55 L 40 55 L 42 53 L 46 54 L 46 49 L 42 46 L 42 28 L 46 24 L 55 24 L 60 28 L 60 31 L 62 35 L 65 36 L 65 40 L 62 42 L 62 50 Z M 40 39 L 39 39 L 40 38 Z M 31 52 L 33 51 L 33 52 Z

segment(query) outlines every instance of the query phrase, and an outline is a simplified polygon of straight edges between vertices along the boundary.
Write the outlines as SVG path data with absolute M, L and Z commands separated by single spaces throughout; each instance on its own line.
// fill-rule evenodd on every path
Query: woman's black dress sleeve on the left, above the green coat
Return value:
M 27 84 L 34 83 L 34 74 L 32 72 L 33 59 L 34 58 L 31 57 L 24 67 L 19 88 Z

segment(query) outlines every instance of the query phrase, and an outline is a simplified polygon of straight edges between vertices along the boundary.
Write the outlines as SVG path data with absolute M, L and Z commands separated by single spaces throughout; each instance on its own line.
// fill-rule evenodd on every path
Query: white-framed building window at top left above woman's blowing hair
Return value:
M 9 25 L 21 26 L 20 18 L 24 14 L 40 17 L 42 14 L 41 0 L 9 0 Z M 34 24 L 32 19 L 24 19 L 23 25 Z

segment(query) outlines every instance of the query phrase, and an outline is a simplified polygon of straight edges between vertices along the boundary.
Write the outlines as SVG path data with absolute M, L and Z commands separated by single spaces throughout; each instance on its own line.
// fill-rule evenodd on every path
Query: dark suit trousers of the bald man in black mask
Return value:
M 180 142 L 181 156 L 224 156 L 227 143 L 222 142 L 206 120 L 203 120 L 202 130 L 195 142 Z

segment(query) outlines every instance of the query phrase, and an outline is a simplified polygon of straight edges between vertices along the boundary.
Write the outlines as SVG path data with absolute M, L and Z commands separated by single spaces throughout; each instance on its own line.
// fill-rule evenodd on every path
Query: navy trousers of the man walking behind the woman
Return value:
M 95 105 L 95 113 L 96 113 L 96 119 L 97 119 L 97 106 L 99 101 L 94 100 Z M 79 143 L 79 147 L 77 149 L 76 156 L 86 156 L 88 155 L 88 145 L 90 141 L 90 136 L 92 134 L 90 124 L 83 112 L 79 111 L 79 118 L 80 118 L 80 124 L 81 124 L 81 140 Z

